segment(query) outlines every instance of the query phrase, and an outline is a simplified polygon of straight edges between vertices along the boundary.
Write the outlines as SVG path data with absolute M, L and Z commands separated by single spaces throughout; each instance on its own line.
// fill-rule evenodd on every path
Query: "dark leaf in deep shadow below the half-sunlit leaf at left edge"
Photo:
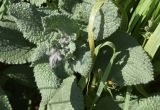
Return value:
M 35 87 L 33 69 L 28 65 L 14 65 L 6 68 L 3 74 L 29 87 Z

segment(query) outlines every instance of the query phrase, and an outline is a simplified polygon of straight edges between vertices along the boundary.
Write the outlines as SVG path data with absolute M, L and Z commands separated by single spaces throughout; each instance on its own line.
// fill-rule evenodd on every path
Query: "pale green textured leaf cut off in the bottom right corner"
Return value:
M 132 110 L 159 110 L 160 108 L 159 101 L 160 101 L 160 96 L 149 97 L 140 101 L 136 109 Z

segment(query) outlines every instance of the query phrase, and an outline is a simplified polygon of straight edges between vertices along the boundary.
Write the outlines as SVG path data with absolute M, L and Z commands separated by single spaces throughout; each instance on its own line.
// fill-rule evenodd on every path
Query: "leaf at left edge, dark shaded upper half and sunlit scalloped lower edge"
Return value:
M 14 28 L 14 23 L 7 24 Z M 22 34 L 14 29 L 0 27 L 0 61 L 8 64 L 30 62 L 33 44 L 26 41 Z

